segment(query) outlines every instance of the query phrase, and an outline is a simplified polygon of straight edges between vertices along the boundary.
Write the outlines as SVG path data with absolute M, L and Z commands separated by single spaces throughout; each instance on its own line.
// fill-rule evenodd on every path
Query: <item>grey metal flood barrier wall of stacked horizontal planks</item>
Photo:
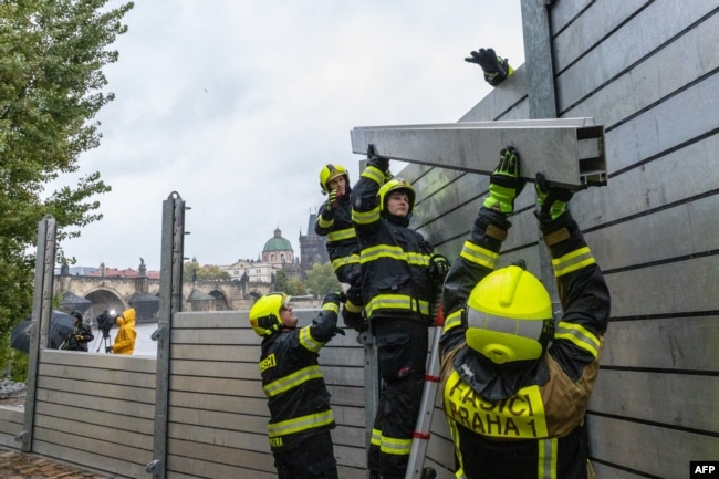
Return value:
M 612 293 L 587 413 L 591 457 L 601 479 L 688 477 L 690 461 L 719 459 L 719 4 L 523 0 L 522 14 L 525 64 L 460 123 L 592 117 L 604 126 L 607 185 L 580 191 L 571 202 Z M 501 54 L 501 39 L 491 46 Z M 413 226 L 439 252 L 456 257 L 487 195 L 487 175 L 423 164 L 400 175 L 418 194 Z M 521 257 L 536 273 L 544 247 L 533 199 L 529 185 L 517 201 L 500 263 Z M 173 315 L 168 478 L 249 477 L 242 471 L 274 477 L 256 363 L 259 339 L 246 314 Z M 320 360 L 338 423 L 333 438 L 341 477 L 350 479 L 364 477 L 365 442 L 363 353 L 353 336 L 333 340 Z M 144 449 L 150 368 L 142 358 L 111 365 L 101 356 L 40 355 L 32 450 L 147 477 L 144 465 L 154 458 Z M 119 374 L 115 366 L 134 371 L 121 375 L 118 381 L 129 382 L 122 388 L 102 382 Z M 71 386 L 70 378 L 82 377 L 76 368 L 100 368 L 93 372 L 97 388 L 95 382 Z M 135 376 L 145 386 L 135 385 Z M 94 399 L 83 399 L 88 395 Z M 115 418 L 105 406 L 110 399 L 112 406 L 127 403 L 134 414 L 121 409 Z M 81 423 L 93 433 L 77 439 L 85 428 L 62 414 L 81 408 L 90 409 L 92 420 Z M 110 426 L 98 424 L 101 412 L 102 420 L 112 418 Z M 0 409 L 0 444 L 19 447 L 13 437 L 21 416 Z M 129 473 L 114 469 L 117 457 L 131 461 Z M 452 477 L 451 442 L 438 407 L 427 464 L 439 469 L 439 479 Z

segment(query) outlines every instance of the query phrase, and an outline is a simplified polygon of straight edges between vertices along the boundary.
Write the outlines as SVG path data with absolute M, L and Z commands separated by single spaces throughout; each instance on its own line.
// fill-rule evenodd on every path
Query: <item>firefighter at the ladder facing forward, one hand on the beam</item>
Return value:
M 362 296 L 383 379 L 367 468 L 371 478 L 404 478 L 417 423 L 427 362 L 433 302 L 447 260 L 408 228 L 415 190 L 387 180 L 389 159 L 369 145 L 352 191 L 352 219 L 361 249 Z

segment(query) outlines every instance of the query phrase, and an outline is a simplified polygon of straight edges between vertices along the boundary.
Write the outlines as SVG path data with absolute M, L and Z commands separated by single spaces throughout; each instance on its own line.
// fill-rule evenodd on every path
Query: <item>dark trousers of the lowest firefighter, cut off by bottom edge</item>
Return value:
M 323 430 L 290 450 L 272 449 L 279 479 L 338 479 L 332 435 Z

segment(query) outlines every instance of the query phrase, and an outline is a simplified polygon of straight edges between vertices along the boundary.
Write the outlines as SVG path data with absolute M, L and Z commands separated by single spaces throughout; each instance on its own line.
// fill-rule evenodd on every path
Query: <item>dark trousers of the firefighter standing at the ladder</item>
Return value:
M 411 450 L 427 364 L 428 329 L 417 321 L 372 324 L 383 387 L 367 454 L 373 478 L 403 479 Z

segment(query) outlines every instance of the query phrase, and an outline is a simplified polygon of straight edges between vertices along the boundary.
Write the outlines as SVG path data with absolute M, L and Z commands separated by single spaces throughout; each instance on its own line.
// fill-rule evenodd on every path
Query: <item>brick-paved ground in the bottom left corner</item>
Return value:
M 70 464 L 0 448 L 0 478 L 2 479 L 113 479 Z

